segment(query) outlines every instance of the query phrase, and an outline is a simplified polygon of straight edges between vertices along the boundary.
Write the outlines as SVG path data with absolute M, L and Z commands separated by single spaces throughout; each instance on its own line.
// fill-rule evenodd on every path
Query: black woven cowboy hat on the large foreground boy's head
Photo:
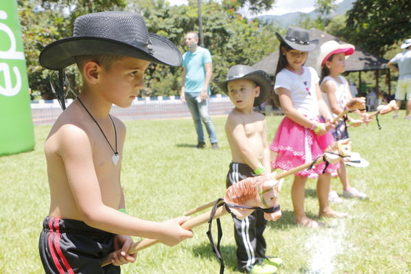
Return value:
M 180 51 L 163 36 L 149 33 L 143 16 L 134 12 L 97 12 L 75 19 L 73 36 L 54 41 L 40 53 L 40 64 L 62 69 L 74 56 L 115 54 L 179 66 Z

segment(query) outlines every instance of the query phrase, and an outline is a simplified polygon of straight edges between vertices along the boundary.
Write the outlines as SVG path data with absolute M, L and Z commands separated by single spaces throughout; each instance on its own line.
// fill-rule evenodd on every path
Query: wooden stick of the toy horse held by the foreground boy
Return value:
M 218 207 L 218 209 L 215 211 L 215 215 L 213 217 L 213 220 L 216 218 L 220 218 L 221 216 L 224 216 L 228 214 L 227 210 L 225 207 Z M 211 212 L 206 212 L 203 213 L 201 215 L 198 215 L 194 218 L 191 218 L 187 221 L 185 221 L 183 223 L 183 225 L 181 225 L 181 227 L 183 227 L 183 229 L 193 229 L 194 227 L 198 227 L 206 222 L 209 221 Z M 154 244 L 158 244 L 158 240 L 154 240 L 154 239 L 144 239 L 141 240 L 139 242 L 134 242 L 134 244 L 132 244 L 132 246 L 130 247 L 130 249 L 128 249 L 128 253 L 129 254 L 134 254 L 137 253 L 143 249 L 146 249 L 148 247 L 151 247 Z M 108 254 L 102 262 L 102 266 L 106 266 L 107 264 L 110 264 L 110 258 L 111 258 L 111 253 Z

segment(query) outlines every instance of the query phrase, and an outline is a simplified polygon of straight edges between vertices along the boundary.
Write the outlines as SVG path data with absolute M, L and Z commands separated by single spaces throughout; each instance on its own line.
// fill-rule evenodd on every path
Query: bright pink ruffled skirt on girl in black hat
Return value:
M 317 117 L 317 122 L 321 122 Z M 334 141 L 331 133 L 318 136 L 312 130 L 296 124 L 292 119 L 285 117 L 281 121 L 277 132 L 275 133 L 270 150 L 277 152 L 277 159 L 271 163 L 271 167 L 281 170 L 291 170 L 298 165 L 303 165 L 310 161 L 314 161 L 318 157 L 322 157 L 325 148 Z M 297 176 L 314 176 L 322 174 L 325 168 L 325 163 L 315 165 L 310 170 L 297 172 Z M 336 172 L 340 168 L 340 163 L 336 165 L 329 164 L 327 173 Z

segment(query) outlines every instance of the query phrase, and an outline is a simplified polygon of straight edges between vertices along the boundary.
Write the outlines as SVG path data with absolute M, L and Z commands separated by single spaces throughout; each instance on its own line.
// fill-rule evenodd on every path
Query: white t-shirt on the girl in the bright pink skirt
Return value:
M 275 78 L 274 91 L 278 94 L 278 88 L 288 89 L 294 109 L 312 119 L 320 114 L 316 95 L 316 84 L 320 78 L 312 67 L 302 69 L 301 75 L 289 69 L 282 69 Z

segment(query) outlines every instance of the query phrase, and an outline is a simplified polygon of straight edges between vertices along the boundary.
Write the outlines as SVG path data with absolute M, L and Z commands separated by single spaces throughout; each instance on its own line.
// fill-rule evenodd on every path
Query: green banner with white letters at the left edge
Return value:
M 0 155 L 33 148 L 34 128 L 17 3 L 0 0 Z

